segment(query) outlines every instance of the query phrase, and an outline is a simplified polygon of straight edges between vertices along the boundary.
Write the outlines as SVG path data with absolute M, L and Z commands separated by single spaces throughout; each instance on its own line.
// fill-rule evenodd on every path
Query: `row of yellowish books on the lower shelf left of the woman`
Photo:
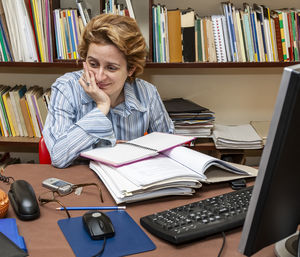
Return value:
M 0 85 L 1 136 L 41 137 L 50 94 L 40 86 Z

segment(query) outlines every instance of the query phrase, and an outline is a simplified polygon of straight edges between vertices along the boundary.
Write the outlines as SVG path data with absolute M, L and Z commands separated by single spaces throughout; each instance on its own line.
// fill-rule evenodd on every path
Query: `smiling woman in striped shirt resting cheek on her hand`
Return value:
M 145 132 L 173 133 L 156 88 L 136 78 L 146 60 L 136 22 L 101 14 L 86 26 L 78 48 L 83 70 L 66 73 L 51 87 L 43 130 L 52 165 L 63 168 L 82 151 Z

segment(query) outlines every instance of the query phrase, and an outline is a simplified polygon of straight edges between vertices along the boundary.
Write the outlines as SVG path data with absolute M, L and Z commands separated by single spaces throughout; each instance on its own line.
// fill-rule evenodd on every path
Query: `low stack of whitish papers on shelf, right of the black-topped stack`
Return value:
M 260 149 L 262 138 L 250 124 L 221 125 L 215 124 L 213 140 L 217 149 Z

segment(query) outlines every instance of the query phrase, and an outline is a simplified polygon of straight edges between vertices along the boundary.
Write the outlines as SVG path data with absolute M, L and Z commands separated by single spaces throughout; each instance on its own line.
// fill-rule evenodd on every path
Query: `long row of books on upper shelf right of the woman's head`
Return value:
M 152 6 L 154 62 L 299 61 L 300 11 L 222 2 L 222 14 Z

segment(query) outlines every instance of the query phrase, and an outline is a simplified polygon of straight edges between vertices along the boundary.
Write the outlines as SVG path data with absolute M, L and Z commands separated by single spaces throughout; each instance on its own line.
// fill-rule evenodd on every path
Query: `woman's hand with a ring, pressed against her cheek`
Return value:
M 97 108 L 100 109 L 104 115 L 109 112 L 110 109 L 110 98 L 101 90 L 97 84 L 95 75 L 93 72 L 88 70 L 86 62 L 83 63 L 83 76 L 79 79 L 79 83 L 83 90 L 96 102 Z

